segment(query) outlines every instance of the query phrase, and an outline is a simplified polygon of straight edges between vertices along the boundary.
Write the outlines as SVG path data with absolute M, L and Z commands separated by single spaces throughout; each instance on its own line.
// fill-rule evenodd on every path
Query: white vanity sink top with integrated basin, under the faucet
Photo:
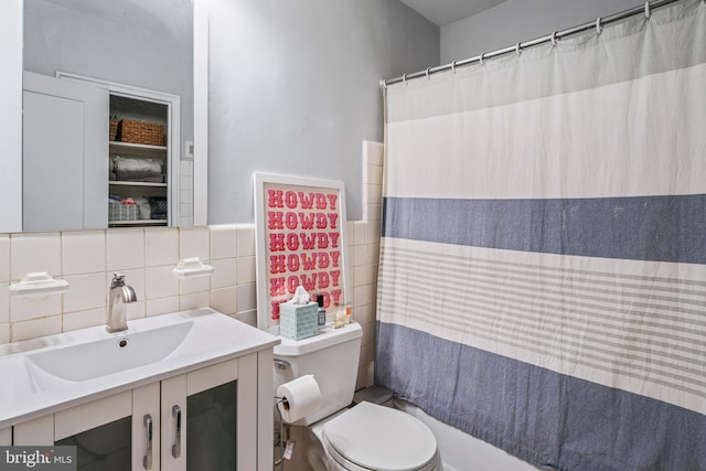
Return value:
M 204 308 L 0 345 L 0 429 L 278 343 Z

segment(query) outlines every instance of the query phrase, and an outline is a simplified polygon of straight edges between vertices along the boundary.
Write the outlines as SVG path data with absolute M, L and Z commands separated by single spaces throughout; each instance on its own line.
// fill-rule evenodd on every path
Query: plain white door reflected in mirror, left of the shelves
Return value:
M 24 73 L 22 229 L 108 227 L 108 92 Z

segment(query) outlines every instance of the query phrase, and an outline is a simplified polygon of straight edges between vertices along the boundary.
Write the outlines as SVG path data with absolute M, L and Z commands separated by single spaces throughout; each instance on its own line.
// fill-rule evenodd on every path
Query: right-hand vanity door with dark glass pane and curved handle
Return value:
M 232 360 L 162 382 L 164 469 L 237 469 L 237 378 Z

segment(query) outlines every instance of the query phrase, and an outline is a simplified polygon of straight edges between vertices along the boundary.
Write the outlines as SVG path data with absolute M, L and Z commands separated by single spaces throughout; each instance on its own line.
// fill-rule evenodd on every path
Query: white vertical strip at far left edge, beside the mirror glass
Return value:
M 0 232 L 22 229 L 22 0 L 0 14 Z M 20 200 L 18 200 L 18 197 Z

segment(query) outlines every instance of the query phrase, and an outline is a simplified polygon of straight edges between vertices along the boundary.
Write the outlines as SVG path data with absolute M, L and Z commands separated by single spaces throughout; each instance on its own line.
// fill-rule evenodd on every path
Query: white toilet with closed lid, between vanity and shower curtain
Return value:
M 419 419 L 368 400 L 349 407 L 362 334 L 351 322 L 299 341 L 282 338 L 275 346 L 275 388 L 312 374 L 321 389 L 321 408 L 292 422 L 307 427 L 309 465 L 313 471 L 441 471 L 436 438 Z

